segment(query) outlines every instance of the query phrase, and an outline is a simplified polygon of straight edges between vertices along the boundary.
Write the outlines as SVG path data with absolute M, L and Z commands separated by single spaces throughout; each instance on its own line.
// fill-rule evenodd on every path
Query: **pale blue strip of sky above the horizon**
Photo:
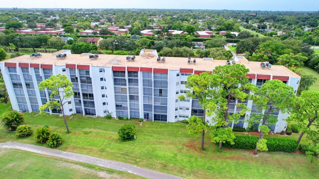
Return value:
M 1 0 L 18 8 L 168 8 L 319 11 L 319 0 Z

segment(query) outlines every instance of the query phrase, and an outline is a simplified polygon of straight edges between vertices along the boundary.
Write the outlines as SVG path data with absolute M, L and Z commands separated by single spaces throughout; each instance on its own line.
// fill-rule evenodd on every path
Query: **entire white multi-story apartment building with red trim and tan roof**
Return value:
M 51 75 L 63 74 L 73 84 L 74 96 L 65 104 L 67 115 L 144 118 L 152 121 L 176 122 L 191 115 L 203 117 L 202 106 L 197 99 L 178 100 L 177 96 L 186 93 L 187 77 L 192 74 L 211 71 L 216 66 L 226 65 L 224 60 L 166 57 L 158 60 L 154 50 L 142 50 L 134 60 L 127 56 L 68 54 L 65 59 L 57 59 L 56 54 L 42 54 L 38 58 L 28 55 L 0 62 L 0 69 L 8 90 L 12 108 L 20 111 L 39 111 L 38 107 L 49 100 L 50 91 L 39 91 L 38 84 Z M 261 86 L 267 80 L 278 79 L 293 87 L 297 92 L 301 77 L 283 66 L 273 65 L 262 68 L 259 62 L 248 62 L 235 58 L 236 63 L 246 66 L 249 81 Z M 246 103 L 251 111 L 242 116 L 239 123 L 229 123 L 231 127 L 247 127 L 243 120 L 252 112 L 259 111 L 252 100 L 235 100 L 229 112 L 235 112 L 237 102 Z M 48 109 L 51 114 L 59 110 Z M 274 132 L 285 130 L 283 120 L 289 114 L 273 112 L 278 116 L 276 125 L 270 126 Z M 207 116 L 209 120 L 209 116 Z

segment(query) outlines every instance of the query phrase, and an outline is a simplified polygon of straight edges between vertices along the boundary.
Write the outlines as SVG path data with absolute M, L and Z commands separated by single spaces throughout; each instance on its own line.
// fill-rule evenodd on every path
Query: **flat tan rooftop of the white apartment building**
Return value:
M 62 52 L 63 53 L 63 52 Z M 99 59 L 90 60 L 88 55 L 67 54 L 66 59 L 56 59 L 55 54 L 42 54 L 41 58 L 30 58 L 29 55 L 22 55 L 12 59 L 1 61 L 0 63 L 35 63 L 54 64 L 55 66 L 65 66 L 66 64 L 92 65 L 94 67 L 149 67 L 163 68 L 169 70 L 179 70 L 180 68 L 194 69 L 198 71 L 212 71 L 215 67 L 226 65 L 226 60 L 204 60 L 195 58 L 196 63 L 187 63 L 187 58 L 165 57 L 165 62 L 157 62 L 157 57 L 136 56 L 134 61 L 127 61 L 127 55 L 99 55 Z M 193 60 L 194 58 L 191 58 Z M 261 68 L 260 62 L 249 62 L 245 58 L 239 58 L 237 64 L 243 64 L 249 69 L 249 74 L 290 76 L 299 78 L 297 74 L 281 65 L 272 65 L 271 69 Z

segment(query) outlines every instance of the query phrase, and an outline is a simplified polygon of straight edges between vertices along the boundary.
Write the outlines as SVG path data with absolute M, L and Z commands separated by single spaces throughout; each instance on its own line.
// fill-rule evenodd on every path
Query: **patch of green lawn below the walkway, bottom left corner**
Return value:
M 133 174 L 113 171 L 20 150 L 0 149 L 0 178 L 15 179 L 137 179 Z

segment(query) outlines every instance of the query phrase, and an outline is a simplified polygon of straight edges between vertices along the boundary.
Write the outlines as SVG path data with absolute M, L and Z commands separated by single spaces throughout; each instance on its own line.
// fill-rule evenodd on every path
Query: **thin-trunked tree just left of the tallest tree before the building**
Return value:
M 202 104 L 203 106 L 203 119 L 193 115 L 188 119 L 189 124 L 186 127 L 188 133 L 192 136 L 198 136 L 200 133 L 202 134 L 201 150 L 204 150 L 205 132 L 208 129 L 208 125 L 206 123 L 206 108 L 209 105 L 214 104 L 212 102 L 212 94 L 215 89 L 213 89 L 211 85 L 212 76 L 209 72 L 201 73 L 200 75 L 190 75 L 188 76 L 187 83 L 185 85 L 185 87 L 189 89 L 186 96 L 178 96 L 180 100 L 185 99 L 185 97 L 192 99 L 198 98 L 199 104 Z

